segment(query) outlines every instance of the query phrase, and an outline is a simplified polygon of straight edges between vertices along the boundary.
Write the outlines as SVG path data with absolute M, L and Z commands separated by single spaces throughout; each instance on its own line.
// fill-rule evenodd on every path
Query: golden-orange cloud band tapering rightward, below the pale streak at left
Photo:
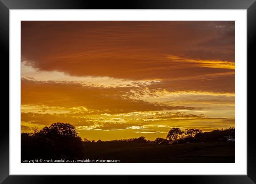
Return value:
M 82 86 L 77 83 L 38 82 L 21 79 L 21 104 L 59 107 L 82 106 L 90 113 L 128 113 L 174 109 L 201 109 L 199 107 L 170 106 L 129 98 L 131 88 L 104 88 Z M 84 112 L 85 114 L 87 112 Z

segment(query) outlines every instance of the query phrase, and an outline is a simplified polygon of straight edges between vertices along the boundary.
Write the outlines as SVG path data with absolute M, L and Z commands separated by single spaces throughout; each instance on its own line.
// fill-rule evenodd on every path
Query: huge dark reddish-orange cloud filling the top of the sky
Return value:
M 22 21 L 21 61 L 39 71 L 133 80 L 219 73 L 224 69 L 202 70 L 204 66 L 169 61 L 166 56 L 193 50 L 198 53 L 193 59 L 202 60 L 203 50 L 204 60 L 212 60 L 214 51 L 218 60 L 233 61 L 234 25 L 235 21 Z

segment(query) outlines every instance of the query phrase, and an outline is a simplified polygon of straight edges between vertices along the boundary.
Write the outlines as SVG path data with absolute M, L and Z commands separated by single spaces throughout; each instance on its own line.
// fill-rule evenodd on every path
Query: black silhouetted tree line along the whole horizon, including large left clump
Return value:
M 202 132 L 200 129 L 172 128 L 165 138 L 147 140 L 144 136 L 138 138 L 120 139 L 135 143 L 167 142 L 184 137 L 195 137 L 202 142 L 226 142 L 227 137 L 235 136 L 235 127 L 216 129 L 211 132 Z M 33 133 L 21 133 L 22 159 L 49 159 L 49 158 L 81 158 L 83 157 L 83 143 L 90 140 L 78 136 L 75 127 L 69 123 L 53 123 L 40 131 L 36 128 Z M 95 142 L 94 140 L 92 142 Z M 102 142 L 100 139 L 97 142 Z

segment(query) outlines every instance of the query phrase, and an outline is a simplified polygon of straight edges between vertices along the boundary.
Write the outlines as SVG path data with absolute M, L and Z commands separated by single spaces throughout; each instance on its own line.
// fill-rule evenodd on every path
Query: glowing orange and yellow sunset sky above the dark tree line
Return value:
M 167 136 L 235 126 L 235 21 L 21 21 L 21 132 Z

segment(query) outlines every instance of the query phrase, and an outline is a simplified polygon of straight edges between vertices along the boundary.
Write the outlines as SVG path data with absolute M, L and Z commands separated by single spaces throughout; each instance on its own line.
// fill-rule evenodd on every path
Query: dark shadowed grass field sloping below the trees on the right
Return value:
M 120 163 L 235 163 L 234 143 L 158 145 L 124 141 L 86 142 L 85 159 Z

